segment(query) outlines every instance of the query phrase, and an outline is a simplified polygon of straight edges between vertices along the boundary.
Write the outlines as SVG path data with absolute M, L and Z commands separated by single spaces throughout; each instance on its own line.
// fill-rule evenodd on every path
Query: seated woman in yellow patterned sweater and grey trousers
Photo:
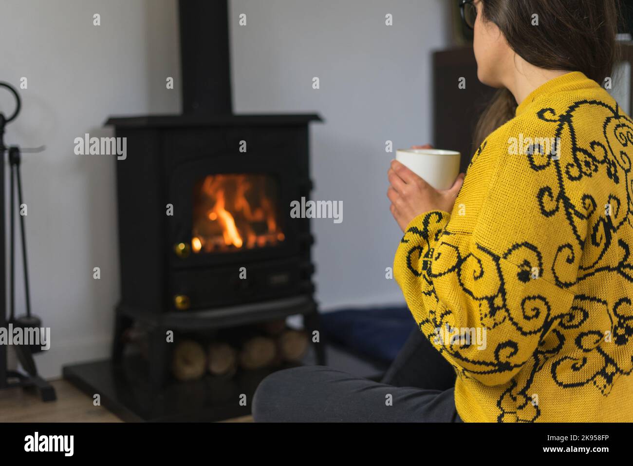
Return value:
M 394 277 L 419 330 L 382 384 L 271 375 L 258 421 L 633 420 L 633 122 L 601 87 L 615 0 L 461 8 L 479 80 L 501 89 L 479 148 L 450 190 L 395 160 L 388 173 Z

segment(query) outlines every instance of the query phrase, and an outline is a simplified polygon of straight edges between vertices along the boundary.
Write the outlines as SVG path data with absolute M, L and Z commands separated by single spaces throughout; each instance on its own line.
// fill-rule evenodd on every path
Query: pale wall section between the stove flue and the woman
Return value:
M 385 279 L 402 237 L 389 212 L 395 154 L 385 141 L 431 141 L 430 51 L 448 44 L 449 2 L 232 0 L 230 14 L 235 111 L 325 119 L 311 127 L 313 198 L 342 200 L 343 222 L 313 221 L 323 309 L 403 302 Z

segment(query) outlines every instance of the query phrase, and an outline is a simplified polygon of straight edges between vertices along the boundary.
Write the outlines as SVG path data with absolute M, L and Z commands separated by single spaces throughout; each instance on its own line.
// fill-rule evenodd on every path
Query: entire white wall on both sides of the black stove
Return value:
M 46 377 L 108 355 L 119 294 L 113 160 L 75 155 L 73 139 L 106 134 L 109 115 L 180 111 L 176 14 L 175 0 L 3 1 L 0 80 L 28 79 L 6 141 L 47 146 L 23 163 L 32 308 L 52 327 L 51 349 L 37 356 Z M 323 309 L 403 302 L 385 280 L 401 232 L 384 144 L 430 141 L 430 51 L 448 43 L 446 15 L 446 0 L 232 0 L 235 112 L 326 120 L 311 131 L 313 198 L 342 200 L 344 220 L 313 221 Z M 9 101 L 2 93 L 0 110 Z M 20 292 L 20 313 L 22 303 Z

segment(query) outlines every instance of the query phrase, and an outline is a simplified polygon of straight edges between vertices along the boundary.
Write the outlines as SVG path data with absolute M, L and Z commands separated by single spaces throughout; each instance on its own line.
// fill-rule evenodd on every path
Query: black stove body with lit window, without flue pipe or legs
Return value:
M 122 308 L 156 316 L 311 295 L 308 122 L 315 115 L 110 119 Z M 246 145 L 246 152 L 240 148 Z M 246 276 L 246 279 L 244 279 Z

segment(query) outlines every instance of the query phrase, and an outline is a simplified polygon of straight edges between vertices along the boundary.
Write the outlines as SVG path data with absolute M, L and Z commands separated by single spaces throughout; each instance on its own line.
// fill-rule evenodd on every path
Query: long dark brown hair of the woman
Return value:
M 523 60 L 546 70 L 583 72 L 602 84 L 617 60 L 617 0 L 481 0 L 483 20 L 499 27 Z M 538 15 L 539 25 L 532 25 Z M 499 89 L 479 119 L 475 146 L 515 116 L 517 101 Z

